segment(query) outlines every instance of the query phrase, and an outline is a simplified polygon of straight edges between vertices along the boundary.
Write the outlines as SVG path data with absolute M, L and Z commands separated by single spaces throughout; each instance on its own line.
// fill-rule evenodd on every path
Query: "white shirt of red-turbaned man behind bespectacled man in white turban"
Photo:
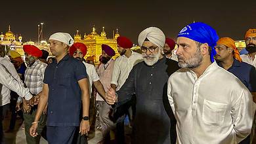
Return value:
M 131 69 L 133 69 L 133 66 L 142 61 L 143 58 L 141 54 L 133 51 L 131 51 L 131 56 L 129 58 L 127 58 L 124 54 L 123 56 L 116 58 L 111 80 L 111 84 L 116 84 L 116 90 L 119 90 L 121 86 L 123 86 Z

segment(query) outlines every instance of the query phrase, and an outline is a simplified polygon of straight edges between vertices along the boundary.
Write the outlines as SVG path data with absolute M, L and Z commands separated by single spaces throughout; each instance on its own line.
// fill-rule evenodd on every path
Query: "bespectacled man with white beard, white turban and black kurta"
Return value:
M 168 105 L 167 79 L 179 69 L 178 64 L 163 56 L 165 35 L 158 27 L 144 29 L 138 42 L 144 62 L 133 67 L 120 90 L 108 90 L 106 101 L 116 103 L 116 118 L 136 94 L 132 143 L 175 143 L 176 121 Z

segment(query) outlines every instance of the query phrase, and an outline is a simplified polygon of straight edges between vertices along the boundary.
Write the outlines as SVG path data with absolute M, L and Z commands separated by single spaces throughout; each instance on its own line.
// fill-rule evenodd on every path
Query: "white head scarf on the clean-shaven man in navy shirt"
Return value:
M 68 46 L 72 46 L 74 44 L 74 39 L 69 33 L 53 33 L 53 35 L 50 36 L 49 40 L 50 39 L 66 43 L 66 45 Z

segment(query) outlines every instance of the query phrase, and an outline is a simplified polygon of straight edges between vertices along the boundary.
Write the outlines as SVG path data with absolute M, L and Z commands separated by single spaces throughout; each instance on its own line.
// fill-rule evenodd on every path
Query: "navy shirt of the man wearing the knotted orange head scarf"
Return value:
M 222 66 L 220 63 L 218 65 Z M 238 77 L 250 92 L 256 92 L 256 69 L 253 65 L 234 59 L 228 71 Z

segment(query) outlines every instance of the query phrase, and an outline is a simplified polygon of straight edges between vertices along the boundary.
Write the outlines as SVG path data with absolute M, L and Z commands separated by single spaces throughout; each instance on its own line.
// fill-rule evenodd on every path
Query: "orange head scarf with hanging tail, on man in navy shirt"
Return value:
M 221 39 L 219 39 L 219 41 L 217 41 L 217 45 L 221 45 L 221 44 L 227 46 L 228 48 L 233 48 L 234 58 L 236 58 L 236 60 L 238 60 L 239 62 L 242 62 L 238 48 L 236 48 L 236 45 L 233 39 L 231 39 L 230 37 L 222 37 Z

